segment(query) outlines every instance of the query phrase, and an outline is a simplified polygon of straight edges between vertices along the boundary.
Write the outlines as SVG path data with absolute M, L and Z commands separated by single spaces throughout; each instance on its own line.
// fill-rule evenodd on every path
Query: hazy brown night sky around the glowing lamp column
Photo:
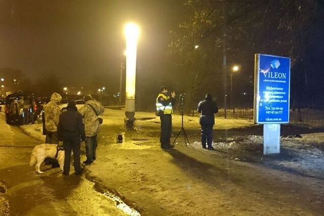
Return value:
M 154 73 L 152 68 L 164 64 L 181 6 L 182 1 L 169 0 L 0 0 L 0 68 L 21 70 L 30 79 L 55 73 L 70 86 L 100 77 L 117 91 L 124 23 L 141 26 L 138 64 Z

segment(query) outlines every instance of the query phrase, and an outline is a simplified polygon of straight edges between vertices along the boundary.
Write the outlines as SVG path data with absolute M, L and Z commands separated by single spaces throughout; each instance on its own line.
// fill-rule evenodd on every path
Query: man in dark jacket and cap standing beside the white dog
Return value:
M 65 151 L 63 174 L 69 175 L 71 150 L 73 150 L 75 174 L 82 173 L 80 167 L 80 139 L 85 141 L 86 133 L 82 115 L 77 112 L 74 100 L 70 100 L 67 111 L 60 115 L 58 125 L 58 138 L 63 141 Z

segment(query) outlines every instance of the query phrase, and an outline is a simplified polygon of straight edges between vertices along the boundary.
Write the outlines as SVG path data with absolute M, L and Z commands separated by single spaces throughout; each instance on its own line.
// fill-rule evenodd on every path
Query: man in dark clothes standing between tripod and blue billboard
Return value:
M 212 143 L 212 127 L 215 124 L 214 113 L 218 113 L 217 103 L 211 100 L 211 94 L 206 94 L 205 99 L 198 104 L 197 111 L 201 113 L 199 123 L 201 125 L 201 144 L 206 148 L 206 138 L 208 149 L 214 149 Z

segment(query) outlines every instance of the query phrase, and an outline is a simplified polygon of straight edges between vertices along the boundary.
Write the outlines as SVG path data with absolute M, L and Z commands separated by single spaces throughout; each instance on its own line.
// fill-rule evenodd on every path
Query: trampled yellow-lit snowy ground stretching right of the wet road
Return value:
M 198 117 L 184 116 L 190 145 L 186 147 L 180 134 L 175 149 L 164 151 L 154 113 L 137 112 L 136 130 L 124 128 L 123 116 L 124 111 L 105 110 L 97 159 L 86 167 L 85 176 L 141 215 L 321 215 L 324 211 L 322 133 L 282 138 L 281 154 L 263 156 L 261 126 L 217 118 L 215 151 L 210 151 L 200 147 Z M 173 141 L 181 116 L 173 115 L 172 121 Z M 41 124 L 21 128 L 44 141 Z M 310 131 L 282 125 L 284 135 Z M 121 144 L 116 142 L 119 132 L 124 135 Z

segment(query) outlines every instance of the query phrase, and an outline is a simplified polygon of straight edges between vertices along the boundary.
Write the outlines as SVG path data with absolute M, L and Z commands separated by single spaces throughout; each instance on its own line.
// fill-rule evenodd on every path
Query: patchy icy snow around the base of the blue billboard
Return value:
M 213 142 L 216 150 L 232 152 L 232 159 L 248 156 L 254 160 L 264 160 L 266 164 L 279 166 L 294 172 L 308 175 L 324 175 L 324 133 L 309 133 L 299 136 L 281 137 L 281 154 L 277 157 L 263 156 L 262 136 L 240 136 L 229 138 L 226 142 Z M 193 148 L 201 148 L 201 142 L 194 142 Z M 239 153 L 238 153 L 239 152 Z M 252 152 L 252 155 L 251 155 Z M 237 156 L 239 155 L 239 156 Z M 267 159 L 265 161 L 266 157 Z

